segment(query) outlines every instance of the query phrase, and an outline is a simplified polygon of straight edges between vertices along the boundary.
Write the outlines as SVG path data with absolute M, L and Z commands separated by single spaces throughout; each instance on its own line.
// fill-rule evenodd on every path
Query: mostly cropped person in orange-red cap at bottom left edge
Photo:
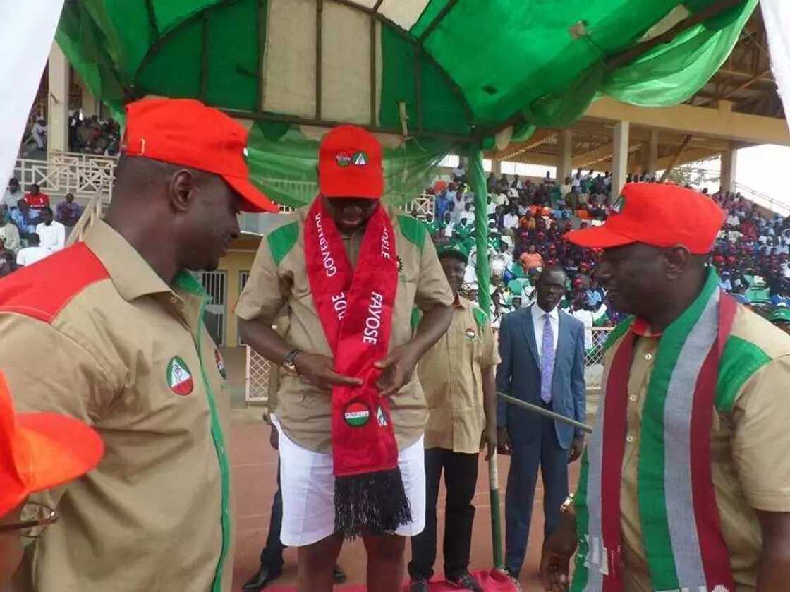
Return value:
M 55 413 L 15 415 L 0 373 L 0 590 L 22 558 L 23 540 L 40 537 L 58 513 L 28 496 L 58 487 L 96 466 L 99 435 L 81 421 Z

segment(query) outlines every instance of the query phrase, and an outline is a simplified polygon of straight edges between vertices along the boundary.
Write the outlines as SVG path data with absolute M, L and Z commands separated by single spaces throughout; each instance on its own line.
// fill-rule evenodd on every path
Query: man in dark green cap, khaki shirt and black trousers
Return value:
M 469 551 L 475 507 L 478 452 L 496 447 L 496 340 L 487 315 L 459 295 L 468 261 L 468 247 L 450 243 L 438 249 L 442 270 L 453 289 L 450 329 L 419 361 L 417 374 L 425 391 L 425 530 L 412 537 L 408 572 L 410 592 L 427 592 L 436 560 L 436 502 L 442 470 L 447 488 L 444 573 L 464 590 L 482 592 L 469 574 Z

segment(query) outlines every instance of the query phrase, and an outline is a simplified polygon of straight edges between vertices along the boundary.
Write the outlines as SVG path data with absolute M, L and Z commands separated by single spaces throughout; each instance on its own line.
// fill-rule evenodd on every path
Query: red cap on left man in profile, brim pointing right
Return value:
M 220 175 L 244 198 L 245 212 L 276 212 L 250 183 L 247 131 L 233 118 L 194 99 L 143 99 L 126 105 L 122 150 Z

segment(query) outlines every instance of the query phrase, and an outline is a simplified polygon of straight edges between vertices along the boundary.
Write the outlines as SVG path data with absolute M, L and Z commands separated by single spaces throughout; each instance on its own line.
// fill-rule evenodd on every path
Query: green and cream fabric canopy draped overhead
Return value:
M 469 159 L 487 239 L 482 150 L 570 126 L 596 96 L 645 106 L 697 92 L 757 0 L 66 0 L 57 40 L 122 117 L 194 97 L 250 126 L 254 183 L 313 198 L 337 123 L 381 134 L 386 197 L 404 204 L 446 153 Z M 660 41 L 661 43 L 657 43 Z M 478 258 L 480 305 L 487 261 Z

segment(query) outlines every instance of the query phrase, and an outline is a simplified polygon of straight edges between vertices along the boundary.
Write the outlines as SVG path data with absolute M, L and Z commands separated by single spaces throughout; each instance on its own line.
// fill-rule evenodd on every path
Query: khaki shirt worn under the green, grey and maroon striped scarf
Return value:
M 765 319 L 739 306 L 732 337 L 756 345 L 766 364 L 747 379 L 735 396 L 732 413 L 713 413 L 710 452 L 713 487 L 721 531 L 730 551 L 736 590 L 754 590 L 762 553 L 760 523 L 754 509 L 790 511 L 790 337 Z M 642 409 L 658 348 L 657 337 L 637 338 L 628 381 L 626 451 L 620 490 L 626 592 L 653 592 L 642 539 L 637 496 L 637 471 Z M 616 345 L 604 363 L 610 367 Z M 743 359 L 743 369 L 748 371 Z

